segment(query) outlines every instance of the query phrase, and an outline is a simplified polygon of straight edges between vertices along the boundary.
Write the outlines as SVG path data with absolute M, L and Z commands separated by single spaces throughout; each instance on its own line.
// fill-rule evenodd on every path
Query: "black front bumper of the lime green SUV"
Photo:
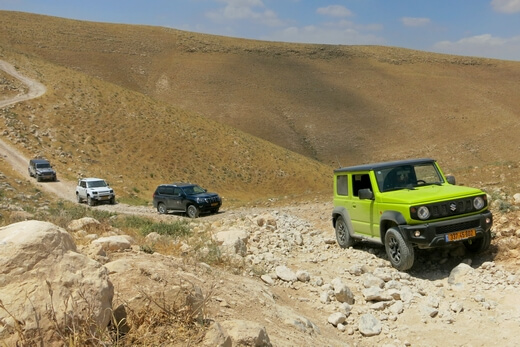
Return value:
M 440 222 L 400 225 L 399 229 L 407 241 L 416 244 L 419 248 L 430 248 L 482 238 L 484 237 L 484 233 L 489 232 L 492 225 L 493 215 L 491 212 L 486 211 L 473 216 L 454 218 Z M 475 236 L 473 237 L 449 241 L 449 234 L 472 230 L 475 231 Z

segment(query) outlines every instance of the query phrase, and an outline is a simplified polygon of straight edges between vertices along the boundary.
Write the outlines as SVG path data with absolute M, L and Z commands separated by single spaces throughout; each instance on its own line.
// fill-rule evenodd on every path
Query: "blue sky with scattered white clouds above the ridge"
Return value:
M 268 41 L 383 45 L 520 61 L 520 0 L 0 0 L 0 9 Z

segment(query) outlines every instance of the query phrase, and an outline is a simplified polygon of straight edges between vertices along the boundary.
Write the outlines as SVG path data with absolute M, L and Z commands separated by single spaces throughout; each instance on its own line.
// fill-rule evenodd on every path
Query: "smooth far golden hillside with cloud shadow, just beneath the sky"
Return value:
M 16 50 L 334 166 L 433 156 L 455 169 L 518 159 L 509 144 L 520 126 L 520 62 L 16 12 L 0 19 L 2 41 Z

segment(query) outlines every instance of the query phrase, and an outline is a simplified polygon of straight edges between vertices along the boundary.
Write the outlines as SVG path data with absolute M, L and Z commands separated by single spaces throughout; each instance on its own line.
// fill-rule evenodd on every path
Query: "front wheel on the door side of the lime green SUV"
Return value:
M 406 271 L 413 266 L 415 251 L 399 230 L 390 228 L 385 234 L 385 250 L 390 263 L 399 271 Z

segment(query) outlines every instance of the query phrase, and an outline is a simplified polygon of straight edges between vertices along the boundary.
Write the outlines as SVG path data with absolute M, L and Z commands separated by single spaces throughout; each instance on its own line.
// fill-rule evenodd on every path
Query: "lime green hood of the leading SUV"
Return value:
M 440 186 L 428 185 L 424 187 L 415 187 L 414 189 L 400 189 L 381 193 L 381 202 L 417 205 L 443 200 L 460 199 L 481 194 L 484 194 L 484 192 L 480 189 L 445 183 Z

